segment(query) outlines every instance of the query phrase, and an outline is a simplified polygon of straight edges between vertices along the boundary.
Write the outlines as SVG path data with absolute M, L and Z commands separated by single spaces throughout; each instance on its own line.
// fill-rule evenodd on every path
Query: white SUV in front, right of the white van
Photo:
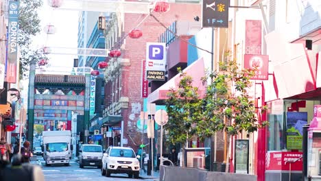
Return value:
M 102 176 L 110 173 L 127 173 L 129 178 L 139 178 L 139 160 L 130 147 L 108 147 L 102 158 Z

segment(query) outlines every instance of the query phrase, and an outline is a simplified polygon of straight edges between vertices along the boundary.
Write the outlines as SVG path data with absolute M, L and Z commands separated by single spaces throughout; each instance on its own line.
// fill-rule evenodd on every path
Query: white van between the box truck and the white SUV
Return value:
M 79 149 L 79 167 L 97 166 L 102 168 L 102 145 L 84 144 Z

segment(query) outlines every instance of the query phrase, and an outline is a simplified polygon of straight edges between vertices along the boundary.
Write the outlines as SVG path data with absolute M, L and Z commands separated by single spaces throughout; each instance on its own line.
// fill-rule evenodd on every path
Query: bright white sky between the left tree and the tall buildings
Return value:
M 43 0 L 43 3 L 43 7 L 38 10 L 41 32 L 34 37 L 33 47 L 68 47 L 76 49 L 78 44 L 79 12 L 51 8 L 47 0 Z M 56 33 L 48 35 L 44 30 L 46 25 L 54 25 Z M 73 67 L 73 59 L 78 58 L 78 56 L 58 55 L 56 53 L 49 54 L 48 57 L 49 66 L 46 69 L 53 74 L 67 73 L 66 71 L 71 70 L 71 67 Z

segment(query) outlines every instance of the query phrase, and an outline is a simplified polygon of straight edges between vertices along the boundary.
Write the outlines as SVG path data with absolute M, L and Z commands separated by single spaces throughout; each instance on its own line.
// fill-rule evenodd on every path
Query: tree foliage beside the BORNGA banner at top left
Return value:
M 19 70 L 21 78 L 26 76 L 25 72 L 29 69 L 30 62 L 48 60 L 43 50 L 31 47 L 32 38 L 40 32 L 40 19 L 37 10 L 42 5 L 42 0 L 20 1 L 18 44 L 21 53 Z

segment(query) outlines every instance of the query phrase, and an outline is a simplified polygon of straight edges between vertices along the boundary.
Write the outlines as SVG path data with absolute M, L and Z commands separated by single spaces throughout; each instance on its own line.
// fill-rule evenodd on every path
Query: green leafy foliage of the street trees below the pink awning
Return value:
M 192 135 L 204 140 L 222 130 L 229 135 L 250 133 L 267 123 L 258 123 L 257 109 L 248 94 L 255 70 L 240 69 L 235 60 L 219 67 L 222 71 L 202 78 L 204 84 L 211 80 L 203 97 L 191 85 L 192 77 L 180 71 L 178 88 L 170 90 L 166 101 L 169 120 L 165 128 L 172 143 L 185 143 Z

